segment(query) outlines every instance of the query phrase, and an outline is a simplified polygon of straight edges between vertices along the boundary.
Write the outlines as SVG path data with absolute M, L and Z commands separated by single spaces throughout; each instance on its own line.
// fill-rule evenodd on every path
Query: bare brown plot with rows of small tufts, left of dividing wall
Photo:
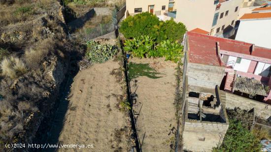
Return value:
M 131 148 L 129 132 L 123 129 L 129 124 L 129 117 L 117 107 L 117 96 L 123 91 L 115 76 L 110 74 L 119 67 L 117 61 L 110 60 L 94 64 L 76 75 L 59 141 L 93 144 L 94 148 L 59 149 L 59 152 L 128 152 Z

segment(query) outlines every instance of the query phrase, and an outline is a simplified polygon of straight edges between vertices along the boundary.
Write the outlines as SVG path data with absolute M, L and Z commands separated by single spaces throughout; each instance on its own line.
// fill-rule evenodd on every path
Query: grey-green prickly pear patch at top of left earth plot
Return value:
M 86 58 L 92 62 L 102 63 L 112 59 L 118 53 L 118 47 L 109 44 L 100 44 L 95 41 L 87 42 Z

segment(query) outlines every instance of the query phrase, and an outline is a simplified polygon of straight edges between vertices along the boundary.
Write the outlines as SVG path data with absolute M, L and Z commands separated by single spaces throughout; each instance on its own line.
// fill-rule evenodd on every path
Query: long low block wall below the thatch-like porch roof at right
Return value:
M 262 119 L 271 117 L 271 105 L 226 92 L 226 108 L 234 109 L 235 107 L 243 110 L 254 108 L 256 116 Z

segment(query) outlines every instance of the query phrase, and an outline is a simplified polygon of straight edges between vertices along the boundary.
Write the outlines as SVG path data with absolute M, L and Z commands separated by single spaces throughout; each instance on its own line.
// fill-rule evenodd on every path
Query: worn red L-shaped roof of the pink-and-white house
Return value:
M 220 66 L 216 55 L 216 42 L 219 42 L 220 50 L 250 55 L 251 43 L 190 31 L 187 32 L 187 36 L 189 62 Z M 271 59 L 271 49 L 255 46 L 251 56 Z

